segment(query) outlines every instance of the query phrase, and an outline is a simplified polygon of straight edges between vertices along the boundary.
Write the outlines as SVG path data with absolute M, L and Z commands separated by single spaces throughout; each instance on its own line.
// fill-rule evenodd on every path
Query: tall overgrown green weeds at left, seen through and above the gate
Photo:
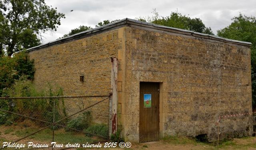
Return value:
M 36 96 L 61 96 L 63 91 L 61 88 L 49 86 L 47 89 L 37 90 L 32 84 L 31 80 L 22 76 L 16 80 L 12 87 L 4 90 L 4 95 L 12 95 L 12 97 L 36 97 Z M 65 107 L 64 104 L 60 106 L 59 99 L 1 99 L 0 108 L 7 111 L 12 111 L 21 115 L 42 119 L 44 121 L 52 122 L 53 112 L 55 112 L 55 119 L 58 120 L 65 114 L 60 107 Z M 54 111 L 55 103 L 55 111 Z M 24 121 L 24 117 L 18 117 L 8 113 L 0 113 L 0 124 L 10 125 L 15 121 Z M 42 125 L 42 123 L 40 123 Z

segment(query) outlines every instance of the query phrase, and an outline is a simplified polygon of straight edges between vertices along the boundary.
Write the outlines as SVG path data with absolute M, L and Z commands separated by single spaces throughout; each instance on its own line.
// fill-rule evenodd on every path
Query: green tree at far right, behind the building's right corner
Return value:
M 217 31 L 218 36 L 239 41 L 251 42 L 252 68 L 252 107 L 256 109 L 256 18 L 239 14 L 231 19 L 233 22 Z

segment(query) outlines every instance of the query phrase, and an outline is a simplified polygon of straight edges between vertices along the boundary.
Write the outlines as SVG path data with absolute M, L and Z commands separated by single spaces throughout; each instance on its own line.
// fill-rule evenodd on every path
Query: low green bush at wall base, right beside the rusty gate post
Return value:
M 84 129 L 84 132 L 108 138 L 108 125 L 95 124 Z M 92 136 L 91 134 L 86 134 L 86 136 L 90 137 Z

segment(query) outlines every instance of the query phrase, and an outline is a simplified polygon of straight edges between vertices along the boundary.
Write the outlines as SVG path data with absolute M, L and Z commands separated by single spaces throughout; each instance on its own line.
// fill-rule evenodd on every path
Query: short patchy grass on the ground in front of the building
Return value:
M 18 137 L 23 137 L 28 134 L 31 134 L 32 132 L 38 131 L 40 128 L 37 127 L 6 127 L 5 130 L 2 130 L 2 135 L 6 137 L 0 137 L 0 143 L 6 142 L 6 139 L 8 139 L 8 136 L 11 134 L 16 135 Z M 98 128 L 98 127 L 94 127 Z M 92 130 L 94 131 L 94 130 Z M 6 135 L 4 135 L 6 134 Z M 97 133 L 95 133 L 97 134 Z M 52 130 L 51 129 L 44 129 L 43 131 L 40 131 L 32 136 L 29 136 L 28 138 L 37 141 L 42 142 L 50 142 L 52 141 Z M 71 132 L 71 131 L 65 131 L 64 129 L 58 129 L 55 131 L 54 140 L 58 143 L 62 144 L 74 144 L 74 143 L 80 143 L 85 144 L 86 142 L 96 142 L 99 141 L 98 138 L 95 137 L 88 137 L 82 132 Z M 232 140 L 223 140 L 220 142 L 219 146 L 216 146 L 215 143 L 204 143 L 204 142 L 198 142 L 196 138 L 190 138 L 186 136 L 165 136 L 162 138 L 162 143 L 166 145 L 180 145 L 180 146 L 196 146 L 195 148 L 201 148 L 207 149 L 207 150 L 248 150 L 252 148 L 256 148 L 256 137 L 243 137 L 243 138 L 236 138 Z M 143 144 L 140 147 L 141 149 L 148 149 L 150 146 Z M 80 149 L 80 148 L 79 148 Z M 81 148 L 82 149 L 82 148 Z M 107 148 L 108 149 L 108 148 Z M 111 149 L 111 148 L 110 148 Z M 126 148 L 125 150 L 132 150 L 133 148 Z

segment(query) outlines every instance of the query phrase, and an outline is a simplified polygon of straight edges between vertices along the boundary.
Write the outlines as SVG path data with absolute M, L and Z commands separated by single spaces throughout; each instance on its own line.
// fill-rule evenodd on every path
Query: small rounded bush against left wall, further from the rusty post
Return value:
M 83 115 L 79 115 L 75 119 L 68 121 L 67 127 L 76 129 L 76 130 L 84 130 L 87 129 L 92 123 L 92 114 L 90 111 L 85 111 Z M 65 129 L 66 131 L 74 131 L 70 129 Z

